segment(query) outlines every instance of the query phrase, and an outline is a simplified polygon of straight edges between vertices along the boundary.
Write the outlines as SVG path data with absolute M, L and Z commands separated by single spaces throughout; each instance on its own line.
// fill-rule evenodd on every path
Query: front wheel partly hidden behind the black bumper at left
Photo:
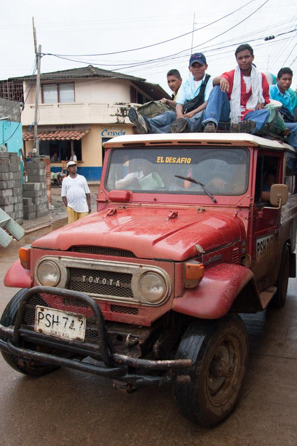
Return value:
M 19 303 L 26 291 L 27 289 L 23 288 L 12 297 L 12 299 L 7 304 L 1 316 L 0 320 L 1 325 L 3 325 L 4 327 L 9 327 L 14 325 Z M 7 353 L 5 351 L 1 351 L 1 355 L 3 356 L 4 360 L 10 367 L 25 375 L 39 377 L 46 375 L 47 373 L 52 372 L 53 370 L 59 368 L 51 364 L 44 364 L 41 362 L 28 360 L 20 356 L 11 355 L 10 353 Z

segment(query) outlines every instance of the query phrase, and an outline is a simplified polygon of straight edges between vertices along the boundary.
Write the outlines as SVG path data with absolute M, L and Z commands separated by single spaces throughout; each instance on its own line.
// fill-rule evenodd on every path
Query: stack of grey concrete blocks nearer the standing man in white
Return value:
M 45 163 L 27 163 L 27 175 L 28 182 L 23 184 L 24 219 L 35 220 L 49 214 Z

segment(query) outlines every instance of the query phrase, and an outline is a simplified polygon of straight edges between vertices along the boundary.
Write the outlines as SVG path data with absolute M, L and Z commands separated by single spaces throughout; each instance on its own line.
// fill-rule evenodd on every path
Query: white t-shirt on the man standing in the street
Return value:
M 83 175 L 78 175 L 71 178 L 70 175 L 62 181 L 61 197 L 67 198 L 69 208 L 75 212 L 88 212 L 88 203 L 86 194 L 90 193 L 90 189 L 86 178 Z

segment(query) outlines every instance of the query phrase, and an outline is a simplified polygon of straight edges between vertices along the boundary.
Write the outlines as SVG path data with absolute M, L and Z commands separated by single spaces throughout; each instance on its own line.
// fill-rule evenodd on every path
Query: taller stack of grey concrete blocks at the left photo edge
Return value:
M 20 157 L 0 152 L 0 208 L 16 223 L 23 223 Z

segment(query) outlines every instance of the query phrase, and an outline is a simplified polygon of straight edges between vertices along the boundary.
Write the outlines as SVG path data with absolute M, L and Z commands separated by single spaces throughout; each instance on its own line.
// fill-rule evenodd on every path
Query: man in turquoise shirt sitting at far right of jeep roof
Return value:
M 269 94 L 271 99 L 282 103 L 283 107 L 280 113 L 286 122 L 286 127 L 289 129 L 287 142 L 297 150 L 297 122 L 294 122 L 292 100 L 290 93 L 288 93 L 292 78 L 293 71 L 291 68 L 281 68 L 277 74 L 276 85 L 270 85 L 269 87 Z

